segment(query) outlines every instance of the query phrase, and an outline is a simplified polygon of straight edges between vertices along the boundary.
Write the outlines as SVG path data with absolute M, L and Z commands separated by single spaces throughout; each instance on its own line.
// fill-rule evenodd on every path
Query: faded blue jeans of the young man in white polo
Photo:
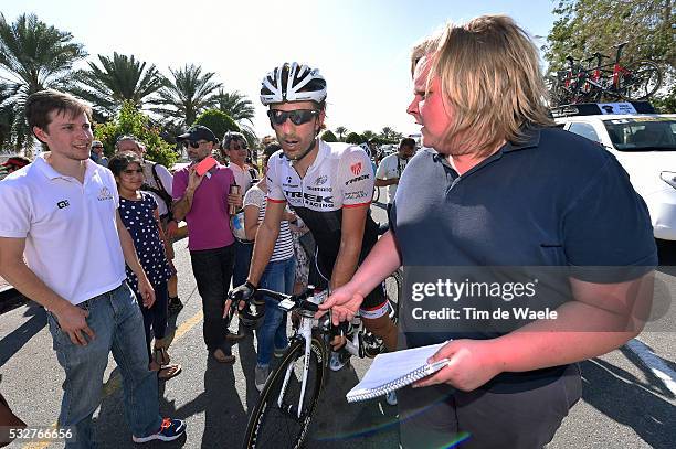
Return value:
M 137 437 L 155 434 L 161 424 L 157 374 L 148 370 L 144 318 L 127 282 L 77 307 L 89 312 L 87 324 L 96 335 L 86 346 L 73 344 L 56 317 L 47 313 L 56 357 L 66 375 L 59 425 L 76 431 L 76 441 L 66 447 L 93 447 L 92 415 L 101 403 L 110 350 L 123 376 L 125 416 L 131 432 Z

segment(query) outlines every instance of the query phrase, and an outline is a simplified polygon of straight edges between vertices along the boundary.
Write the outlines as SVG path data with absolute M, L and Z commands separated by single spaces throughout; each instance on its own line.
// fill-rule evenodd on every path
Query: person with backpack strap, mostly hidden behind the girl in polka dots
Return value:
M 120 136 L 117 138 L 115 143 L 116 150 L 119 151 L 133 151 L 138 154 L 142 160 L 144 169 L 144 185 L 141 190 L 150 192 L 155 197 L 160 214 L 160 223 L 162 224 L 162 231 L 171 243 L 168 247 L 167 257 L 173 271 L 173 276 L 169 279 L 169 313 L 178 313 L 182 308 L 183 303 L 178 297 L 178 274 L 173 266 L 173 238 L 177 235 L 178 222 L 173 217 L 171 209 L 173 207 L 172 201 L 172 183 L 173 177 L 167 170 L 165 165 L 158 162 L 154 162 L 146 159 L 146 147 L 134 136 Z

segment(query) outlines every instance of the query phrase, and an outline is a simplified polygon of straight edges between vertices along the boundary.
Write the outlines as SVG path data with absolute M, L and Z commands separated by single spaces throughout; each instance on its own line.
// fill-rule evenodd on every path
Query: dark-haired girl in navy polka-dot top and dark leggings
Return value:
M 127 266 L 127 282 L 136 293 L 144 314 L 149 368 L 158 372 L 158 377 L 166 381 L 181 372 L 181 365 L 169 364 L 167 352 L 169 341 L 165 339 L 168 312 L 167 280 L 173 276 L 166 253 L 169 252 L 171 243 L 165 237 L 157 201 L 150 193 L 140 190 L 144 183 L 141 163 L 141 158 L 136 153 L 123 151 L 110 159 L 108 168 L 117 182 L 119 216 L 131 235 L 138 258 L 155 290 L 155 303 L 152 307 L 144 308 L 142 297 L 138 291 L 138 280 Z M 154 345 L 152 336 L 155 336 Z

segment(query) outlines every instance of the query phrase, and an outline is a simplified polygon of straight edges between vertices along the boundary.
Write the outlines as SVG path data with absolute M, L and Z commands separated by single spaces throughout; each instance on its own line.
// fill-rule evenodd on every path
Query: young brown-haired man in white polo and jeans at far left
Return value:
M 59 426 L 76 430 L 66 448 L 94 446 L 92 415 L 110 351 L 133 440 L 170 441 L 186 424 L 159 415 L 157 375 L 148 371 L 144 320 L 125 281 L 125 261 L 144 307 L 152 306 L 155 293 L 117 212 L 113 174 L 89 161 L 91 113 L 57 90 L 27 99 L 28 124 L 50 152 L 0 183 L 0 275 L 47 310 L 65 371 Z

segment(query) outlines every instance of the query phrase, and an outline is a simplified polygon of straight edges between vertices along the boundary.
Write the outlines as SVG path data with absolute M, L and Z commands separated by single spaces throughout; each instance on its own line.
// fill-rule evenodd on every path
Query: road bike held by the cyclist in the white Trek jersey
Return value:
M 397 320 L 401 293 L 400 271 L 394 271 L 383 284 L 385 288 L 397 289 L 397 298 L 388 295 L 391 317 Z M 328 314 L 319 320 L 314 318 L 318 304 L 326 299 L 327 293 L 315 293 L 308 288 L 305 293 L 298 296 L 266 289 L 258 289 L 256 295 L 266 295 L 278 300 L 283 310 L 296 311 L 300 316 L 300 322 L 249 417 L 243 447 L 299 448 L 307 436 L 319 402 L 329 362 L 329 341 L 332 335 L 330 318 Z M 356 356 L 368 356 L 367 334 L 362 324 L 358 323 L 352 335 L 348 333 L 346 350 Z M 382 342 L 371 345 L 371 349 L 381 352 Z

